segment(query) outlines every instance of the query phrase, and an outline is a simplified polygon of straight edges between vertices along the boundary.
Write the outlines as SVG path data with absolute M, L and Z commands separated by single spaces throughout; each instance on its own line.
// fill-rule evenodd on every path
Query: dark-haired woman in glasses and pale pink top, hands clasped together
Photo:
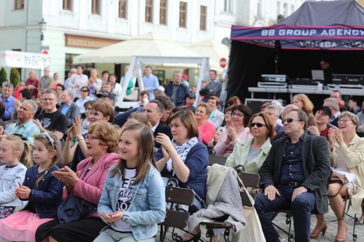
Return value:
M 239 141 L 252 137 L 248 126 L 251 117 L 251 110 L 247 105 L 235 105 L 232 108 L 232 126 L 226 126 L 222 131 L 220 139 L 217 141 L 214 149 L 217 156 L 229 156 L 232 153 L 234 145 Z

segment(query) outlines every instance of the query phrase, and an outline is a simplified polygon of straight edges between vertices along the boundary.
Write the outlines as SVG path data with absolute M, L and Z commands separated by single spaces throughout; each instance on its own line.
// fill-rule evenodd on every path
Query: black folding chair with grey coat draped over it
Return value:
M 260 177 L 258 174 L 245 173 L 245 172 L 239 171 L 238 176 L 243 181 L 243 184 L 245 185 L 245 187 L 247 187 L 247 189 L 248 189 L 248 187 L 256 188 L 259 186 Z M 255 196 L 256 196 L 255 193 L 249 192 L 249 194 L 251 195 L 251 197 L 253 199 L 255 199 Z M 248 195 L 245 193 L 245 191 L 240 192 L 240 197 L 241 197 L 243 206 L 247 206 L 247 207 L 253 206 L 248 198 Z M 200 225 L 206 226 L 206 228 L 207 228 L 206 237 L 210 238 L 210 242 L 212 241 L 212 237 L 214 235 L 213 229 L 215 229 L 215 228 L 225 229 L 224 240 L 226 242 L 229 241 L 230 229 L 232 228 L 231 224 L 228 224 L 225 222 L 201 222 Z

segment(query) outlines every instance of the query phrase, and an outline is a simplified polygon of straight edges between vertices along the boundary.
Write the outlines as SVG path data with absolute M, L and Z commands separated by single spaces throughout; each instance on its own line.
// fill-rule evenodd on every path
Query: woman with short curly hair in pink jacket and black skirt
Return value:
M 109 168 L 116 164 L 120 130 L 115 125 L 98 121 L 85 136 L 87 158 L 77 165 L 77 173 L 68 167 L 52 175 L 66 183 L 58 219 L 39 226 L 35 240 L 93 241 L 105 227 L 96 212 Z

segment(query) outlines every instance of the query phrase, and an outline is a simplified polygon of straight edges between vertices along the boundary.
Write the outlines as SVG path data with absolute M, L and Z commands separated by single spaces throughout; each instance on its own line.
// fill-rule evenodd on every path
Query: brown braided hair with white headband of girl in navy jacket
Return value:
M 60 157 L 60 150 L 61 145 L 57 138 L 57 136 L 51 132 L 51 131 L 44 131 L 40 134 L 34 134 L 34 141 L 40 141 L 44 145 L 46 145 L 49 152 L 55 150 L 56 154 L 53 156 L 50 165 L 48 166 L 47 170 L 43 174 L 43 176 L 39 177 L 39 179 L 36 181 L 35 186 L 38 187 L 39 182 L 48 174 L 50 169 L 53 168 L 53 166 L 56 164 L 58 158 Z

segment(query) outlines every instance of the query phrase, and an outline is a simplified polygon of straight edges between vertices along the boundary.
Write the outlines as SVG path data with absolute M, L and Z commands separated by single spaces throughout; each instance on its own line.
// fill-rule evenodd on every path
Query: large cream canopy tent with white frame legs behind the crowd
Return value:
M 81 63 L 130 63 L 129 71 L 125 74 L 125 80 L 136 76 L 139 89 L 144 89 L 141 67 L 144 63 L 163 65 L 166 63 L 196 64 L 200 65 L 199 81 L 196 90 L 196 103 L 199 100 L 199 90 L 203 77 L 210 70 L 209 57 L 184 48 L 181 45 L 166 39 L 156 33 L 146 33 L 132 37 L 111 46 L 96 49 L 87 54 L 73 58 L 74 64 Z M 133 71 L 133 68 L 135 70 Z M 198 66 L 196 66 L 198 67 Z M 124 81 L 123 92 L 120 98 L 124 99 L 128 81 Z

